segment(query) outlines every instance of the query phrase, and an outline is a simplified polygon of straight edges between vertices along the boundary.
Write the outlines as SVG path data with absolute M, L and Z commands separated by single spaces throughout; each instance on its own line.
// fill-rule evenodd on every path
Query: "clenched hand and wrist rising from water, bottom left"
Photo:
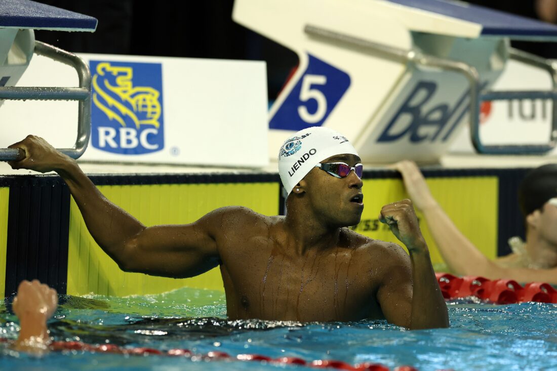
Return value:
M 46 353 L 52 342 L 46 321 L 55 313 L 58 295 L 37 280 L 21 281 L 12 302 L 13 313 L 19 319 L 19 336 L 11 345 L 22 352 Z

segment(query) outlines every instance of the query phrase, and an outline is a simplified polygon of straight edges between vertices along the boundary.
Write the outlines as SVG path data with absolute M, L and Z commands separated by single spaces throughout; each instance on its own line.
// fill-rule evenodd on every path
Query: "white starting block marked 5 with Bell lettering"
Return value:
M 275 158 L 294 131 L 327 126 L 366 162 L 437 162 L 470 122 L 478 153 L 543 154 L 557 143 L 485 145 L 483 101 L 557 99 L 551 62 L 509 46 L 557 40 L 557 27 L 460 1 L 236 0 L 234 21 L 295 51 L 299 66 L 270 110 Z M 490 91 L 510 59 L 548 71 L 548 91 Z

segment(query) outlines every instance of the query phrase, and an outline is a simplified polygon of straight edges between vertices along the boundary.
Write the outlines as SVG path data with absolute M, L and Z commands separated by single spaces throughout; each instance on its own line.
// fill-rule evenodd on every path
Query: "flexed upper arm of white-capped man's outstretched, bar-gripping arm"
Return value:
M 165 277 L 192 277 L 219 264 L 213 224 L 207 214 L 198 221 L 181 225 L 145 228 L 126 243 L 125 271 Z

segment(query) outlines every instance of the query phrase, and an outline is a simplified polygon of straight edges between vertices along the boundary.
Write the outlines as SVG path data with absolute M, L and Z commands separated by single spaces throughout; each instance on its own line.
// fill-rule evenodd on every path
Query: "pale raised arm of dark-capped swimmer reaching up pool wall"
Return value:
M 455 226 L 433 198 L 426 180 L 415 163 L 399 162 L 394 167 L 402 174 L 412 202 L 422 211 L 429 231 L 449 269 L 457 275 L 493 276 L 497 265 L 483 255 Z M 500 277 L 497 277 L 500 278 Z

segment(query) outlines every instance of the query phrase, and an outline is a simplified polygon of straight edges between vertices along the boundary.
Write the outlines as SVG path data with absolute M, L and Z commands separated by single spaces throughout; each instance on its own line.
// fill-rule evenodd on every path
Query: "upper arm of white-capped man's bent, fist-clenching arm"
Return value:
M 377 301 L 389 323 L 408 328 L 412 314 L 412 268 L 408 255 L 403 250 L 402 253 L 406 257 L 399 256 L 395 263 L 385 267 Z

